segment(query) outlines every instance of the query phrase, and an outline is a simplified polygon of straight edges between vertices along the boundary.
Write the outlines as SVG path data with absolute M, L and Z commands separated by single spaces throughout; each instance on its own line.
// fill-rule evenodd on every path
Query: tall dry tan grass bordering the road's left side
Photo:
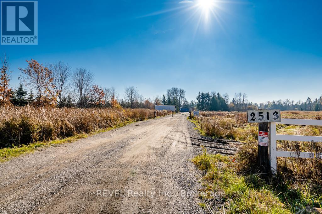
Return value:
M 153 116 L 151 109 L 0 107 L 0 147 L 90 133 Z

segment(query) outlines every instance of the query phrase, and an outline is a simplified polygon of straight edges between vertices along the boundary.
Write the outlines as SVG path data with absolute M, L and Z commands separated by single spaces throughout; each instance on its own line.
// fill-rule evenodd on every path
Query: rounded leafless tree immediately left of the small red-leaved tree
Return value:
M 77 90 L 78 104 L 85 107 L 90 89 L 93 85 L 94 75 L 86 68 L 77 68 L 74 71 L 73 82 Z

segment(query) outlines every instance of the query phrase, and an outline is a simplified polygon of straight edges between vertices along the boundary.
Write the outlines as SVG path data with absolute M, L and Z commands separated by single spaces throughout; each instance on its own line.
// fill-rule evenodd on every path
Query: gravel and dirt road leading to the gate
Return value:
M 200 151 L 195 130 L 179 116 L 0 164 L 0 213 L 204 213 L 192 193 L 200 171 L 188 160 Z

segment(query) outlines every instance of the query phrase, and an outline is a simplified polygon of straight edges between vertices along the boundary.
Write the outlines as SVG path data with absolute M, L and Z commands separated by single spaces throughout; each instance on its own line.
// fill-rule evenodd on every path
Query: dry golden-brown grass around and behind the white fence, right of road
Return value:
M 287 111 L 282 118 L 321 119 L 321 112 Z M 245 112 L 200 112 L 194 117 L 203 134 L 215 138 L 234 139 L 244 142 L 239 147 L 237 159 L 244 172 L 257 171 L 258 124 L 247 123 Z M 278 134 L 322 136 L 320 126 L 277 125 Z M 278 141 L 278 150 L 322 152 L 322 142 Z M 278 171 L 286 180 L 310 181 L 322 185 L 322 159 L 319 158 L 278 158 Z

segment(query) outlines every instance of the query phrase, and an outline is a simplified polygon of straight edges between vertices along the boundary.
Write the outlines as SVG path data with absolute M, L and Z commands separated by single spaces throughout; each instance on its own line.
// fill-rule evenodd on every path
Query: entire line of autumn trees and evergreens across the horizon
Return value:
M 0 105 L 55 106 L 55 107 L 112 107 L 150 108 L 154 105 L 175 105 L 203 111 L 246 111 L 252 109 L 321 110 L 322 95 L 311 100 L 268 101 L 252 103 L 245 93 L 235 93 L 230 100 L 227 93 L 199 92 L 196 101 L 185 98 L 185 90 L 173 87 L 162 97 L 144 98 L 134 86 L 124 89 L 121 97 L 115 87 L 99 87 L 94 84 L 94 74 L 86 68 L 72 69 L 68 63 L 40 64 L 26 60 L 26 68 L 19 68 L 21 83 L 16 89 L 10 86 L 11 71 L 6 55 L 1 58 Z M 28 87 L 28 90 L 25 88 Z

